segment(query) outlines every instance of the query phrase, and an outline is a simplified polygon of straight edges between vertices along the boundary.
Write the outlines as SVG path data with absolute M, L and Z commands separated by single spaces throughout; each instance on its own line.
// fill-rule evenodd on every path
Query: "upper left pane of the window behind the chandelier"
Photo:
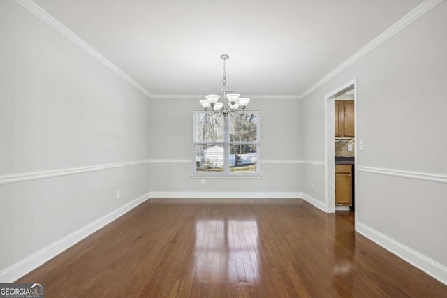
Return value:
M 224 117 L 195 114 L 196 142 L 223 142 Z

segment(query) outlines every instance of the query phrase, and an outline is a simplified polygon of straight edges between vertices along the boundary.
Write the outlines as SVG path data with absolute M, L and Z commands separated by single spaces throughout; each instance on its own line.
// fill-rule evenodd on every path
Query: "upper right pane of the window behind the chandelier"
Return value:
M 258 115 L 242 114 L 229 117 L 230 142 L 256 142 Z

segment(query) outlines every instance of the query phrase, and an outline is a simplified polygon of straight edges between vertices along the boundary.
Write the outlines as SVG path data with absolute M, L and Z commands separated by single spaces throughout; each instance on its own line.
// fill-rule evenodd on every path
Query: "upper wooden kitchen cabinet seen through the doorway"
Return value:
M 335 137 L 354 137 L 354 100 L 335 100 Z

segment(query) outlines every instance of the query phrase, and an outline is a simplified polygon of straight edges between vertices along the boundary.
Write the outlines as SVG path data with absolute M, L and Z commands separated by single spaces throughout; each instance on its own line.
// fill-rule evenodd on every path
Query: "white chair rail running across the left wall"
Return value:
M 94 172 L 101 170 L 113 169 L 115 167 L 128 167 L 131 165 L 142 165 L 144 163 L 150 163 L 150 160 L 143 161 L 129 161 L 126 163 L 110 163 L 108 165 L 94 165 L 90 167 L 72 167 L 68 169 L 62 170 L 49 170 L 49 171 L 41 171 L 41 172 L 28 172 L 28 173 L 20 173 L 20 174 L 8 174 L 0 176 L 0 185 L 1 184 L 10 184 L 17 183 L 22 181 L 30 181 L 37 179 L 45 179 L 59 176 L 66 176 L 71 174 L 80 174 L 85 172 Z

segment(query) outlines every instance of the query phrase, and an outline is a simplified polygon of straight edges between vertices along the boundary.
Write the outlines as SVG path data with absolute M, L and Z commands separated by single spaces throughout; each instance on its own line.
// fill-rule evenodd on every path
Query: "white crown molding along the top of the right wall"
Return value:
M 425 13 L 430 11 L 432 8 L 437 6 L 442 1 L 444 1 L 444 0 L 426 0 L 423 3 L 420 3 L 419 6 L 417 6 L 413 10 L 411 10 L 410 13 L 408 13 L 407 15 L 402 17 L 402 19 L 400 19 L 395 24 L 393 24 L 393 26 L 391 26 L 390 28 L 383 31 L 383 33 L 381 33 L 379 36 L 377 36 L 376 38 L 371 40 L 369 43 L 367 43 L 367 45 L 365 45 L 365 47 L 362 47 L 358 52 L 356 52 L 356 54 L 353 54 L 349 59 L 347 59 L 342 64 L 337 66 L 337 68 L 332 70 L 330 73 L 328 73 L 323 78 L 321 78 L 321 80 L 319 80 L 318 82 L 313 84 L 311 87 L 309 87 L 309 89 L 307 89 L 302 94 L 300 94 L 300 97 L 305 98 L 306 96 L 311 94 L 313 91 L 315 91 L 316 89 L 323 86 L 323 84 L 325 84 L 326 82 L 331 80 L 333 77 L 335 77 L 339 73 L 342 73 L 342 71 L 346 70 L 346 68 L 349 68 L 349 66 L 355 64 L 358 60 L 362 59 L 362 57 L 365 57 L 367 54 L 369 54 L 369 52 L 374 50 L 376 47 L 379 47 L 379 45 L 381 45 L 382 43 L 385 43 L 386 40 L 392 38 L 397 33 L 399 33 L 400 31 L 405 29 L 407 26 L 409 26 L 409 24 L 418 20 L 419 17 L 422 17 L 423 15 L 425 15 Z

